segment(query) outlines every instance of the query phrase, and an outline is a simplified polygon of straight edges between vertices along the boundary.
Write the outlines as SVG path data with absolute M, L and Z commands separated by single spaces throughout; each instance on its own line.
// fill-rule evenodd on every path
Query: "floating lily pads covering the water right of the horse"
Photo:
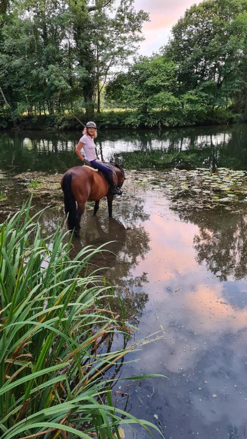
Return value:
M 144 189 L 151 188 L 169 195 L 173 207 L 226 210 L 246 209 L 247 171 L 219 168 L 194 170 L 172 169 L 165 173 L 155 170 L 132 171 L 133 179 Z

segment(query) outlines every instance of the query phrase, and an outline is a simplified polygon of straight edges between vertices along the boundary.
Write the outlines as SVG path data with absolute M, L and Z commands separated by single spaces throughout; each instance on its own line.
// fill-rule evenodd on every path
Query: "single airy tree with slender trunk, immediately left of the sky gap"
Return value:
M 123 68 L 123 63 L 143 40 L 142 24 L 148 15 L 134 10 L 134 0 L 123 0 L 118 6 L 115 0 L 96 1 L 94 6 L 72 1 L 77 59 L 87 72 L 83 85 L 86 117 L 91 119 L 96 96 L 97 111 L 100 111 L 100 95 L 107 76 L 120 63 Z

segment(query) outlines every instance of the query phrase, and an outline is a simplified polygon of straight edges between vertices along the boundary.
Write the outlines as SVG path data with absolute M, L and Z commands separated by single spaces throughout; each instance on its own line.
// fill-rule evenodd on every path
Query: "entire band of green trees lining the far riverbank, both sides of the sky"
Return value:
M 133 5 L 134 0 L 5 1 L 0 85 L 10 110 L 2 109 L 0 126 L 45 115 L 46 126 L 69 128 L 74 113 L 88 120 L 96 107 L 99 125 L 113 128 L 245 120 L 246 1 L 192 5 L 159 54 L 128 65 L 148 20 Z M 113 68 L 121 72 L 107 81 Z M 125 114 L 101 114 L 102 95 L 106 107 L 127 109 Z

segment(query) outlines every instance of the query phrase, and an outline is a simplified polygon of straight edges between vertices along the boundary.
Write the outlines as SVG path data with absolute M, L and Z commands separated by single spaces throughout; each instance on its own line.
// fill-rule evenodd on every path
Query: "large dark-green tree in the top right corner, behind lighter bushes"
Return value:
M 178 63 L 184 91 L 209 89 L 212 106 L 222 105 L 241 88 L 246 39 L 245 0 L 206 0 L 186 10 L 164 51 Z

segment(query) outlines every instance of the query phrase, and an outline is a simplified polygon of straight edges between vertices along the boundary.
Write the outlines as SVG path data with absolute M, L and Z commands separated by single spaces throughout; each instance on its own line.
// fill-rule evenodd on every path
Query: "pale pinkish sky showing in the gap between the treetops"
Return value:
M 135 8 L 149 13 L 150 21 L 144 23 L 145 41 L 140 44 L 140 54 L 149 56 L 163 46 L 171 28 L 184 15 L 185 10 L 200 0 L 135 0 Z

